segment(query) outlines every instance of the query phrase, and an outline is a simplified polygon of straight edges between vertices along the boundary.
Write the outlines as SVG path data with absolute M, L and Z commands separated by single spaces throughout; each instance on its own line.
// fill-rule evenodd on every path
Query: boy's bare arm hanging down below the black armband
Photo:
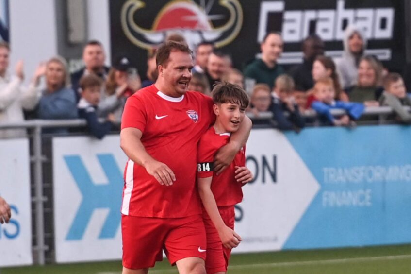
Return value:
M 211 191 L 211 182 L 213 177 L 200 178 L 197 177 L 198 192 L 203 202 L 204 208 L 210 216 L 215 228 L 218 231 L 221 242 L 226 248 L 237 247 L 241 241 L 241 237 L 235 233 L 230 227 L 228 227 L 218 212 L 217 203 L 214 199 L 214 194 Z

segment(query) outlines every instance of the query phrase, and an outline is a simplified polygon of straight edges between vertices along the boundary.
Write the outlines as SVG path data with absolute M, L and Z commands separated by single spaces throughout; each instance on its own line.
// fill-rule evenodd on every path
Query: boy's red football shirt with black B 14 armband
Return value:
M 214 127 L 201 137 L 197 150 L 197 177 L 206 178 L 213 176 L 211 191 L 214 194 L 217 206 L 234 206 L 243 200 L 241 183 L 235 177 L 235 166 L 246 165 L 246 147 L 244 146 L 236 155 L 230 166 L 221 174 L 213 172 L 214 155 L 219 148 L 230 141 L 230 133 L 216 134 Z

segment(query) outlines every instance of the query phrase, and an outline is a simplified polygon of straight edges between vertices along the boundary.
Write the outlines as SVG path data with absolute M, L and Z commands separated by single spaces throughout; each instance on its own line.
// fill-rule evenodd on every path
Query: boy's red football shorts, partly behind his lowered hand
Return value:
M 234 229 L 234 206 L 219 206 L 218 211 L 220 212 L 224 223 L 231 229 Z M 207 273 L 227 271 L 231 249 L 223 246 L 220 236 L 218 236 L 217 229 L 215 229 L 213 222 L 204 208 L 203 221 L 207 234 Z

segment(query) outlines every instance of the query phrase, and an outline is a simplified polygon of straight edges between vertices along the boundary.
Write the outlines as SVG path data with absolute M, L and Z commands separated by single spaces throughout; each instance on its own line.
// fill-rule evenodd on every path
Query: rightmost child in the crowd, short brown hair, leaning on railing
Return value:
M 391 106 L 397 120 L 411 123 L 411 114 L 404 109 L 404 105 L 411 106 L 411 99 L 407 96 L 404 81 L 398 73 L 389 73 L 384 78 L 385 91 L 379 99 L 381 105 Z

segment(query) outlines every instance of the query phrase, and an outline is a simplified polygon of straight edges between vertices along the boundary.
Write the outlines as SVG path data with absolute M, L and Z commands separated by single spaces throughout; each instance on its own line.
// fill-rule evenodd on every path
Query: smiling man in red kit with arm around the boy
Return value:
M 192 52 L 167 42 L 156 53 L 159 77 L 125 106 L 121 148 L 129 157 L 124 172 L 123 274 L 146 274 L 162 250 L 180 273 L 205 274 L 206 236 L 196 189 L 197 142 L 214 122 L 213 101 L 187 92 Z M 222 171 L 245 144 L 246 118 L 216 156 Z

